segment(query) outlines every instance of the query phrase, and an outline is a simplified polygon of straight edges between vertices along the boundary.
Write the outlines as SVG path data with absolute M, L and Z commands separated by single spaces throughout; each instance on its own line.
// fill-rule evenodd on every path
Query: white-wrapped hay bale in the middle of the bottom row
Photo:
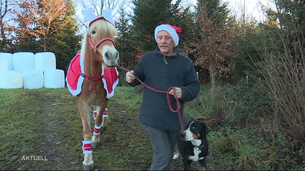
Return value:
M 43 72 L 38 69 L 21 71 L 23 76 L 23 89 L 38 89 L 43 87 Z

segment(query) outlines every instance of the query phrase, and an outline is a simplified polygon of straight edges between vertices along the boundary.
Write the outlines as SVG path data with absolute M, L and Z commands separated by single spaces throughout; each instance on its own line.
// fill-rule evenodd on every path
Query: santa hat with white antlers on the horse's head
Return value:
M 99 19 L 105 19 L 115 27 L 115 24 L 112 20 L 112 10 L 109 9 L 108 11 L 106 11 L 106 10 L 102 10 L 102 11 L 103 11 L 103 15 L 98 15 L 98 16 L 95 16 L 93 14 L 94 13 L 93 8 L 89 8 L 88 11 L 85 11 L 85 10 L 81 11 L 81 13 L 84 15 L 84 22 L 86 22 L 86 21 L 89 22 L 89 24 L 87 26 L 88 29 L 94 21 L 99 20 Z

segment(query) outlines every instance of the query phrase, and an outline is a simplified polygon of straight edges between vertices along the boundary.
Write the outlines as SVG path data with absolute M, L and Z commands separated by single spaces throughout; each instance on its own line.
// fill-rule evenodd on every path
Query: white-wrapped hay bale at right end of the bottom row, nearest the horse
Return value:
M 47 70 L 44 72 L 45 88 L 63 88 L 65 87 L 65 73 L 60 69 Z

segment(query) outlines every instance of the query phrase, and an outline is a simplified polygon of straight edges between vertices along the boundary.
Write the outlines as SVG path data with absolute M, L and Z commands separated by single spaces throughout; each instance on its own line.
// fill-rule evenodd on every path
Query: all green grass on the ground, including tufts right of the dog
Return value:
M 185 114 L 195 118 L 215 118 L 217 109 L 211 105 L 209 88 L 209 85 L 202 86 L 199 101 L 186 103 Z M 109 100 L 107 130 L 100 136 L 101 146 L 93 149 L 92 153 L 95 169 L 149 169 L 153 150 L 148 132 L 138 122 L 142 103 L 142 94 L 139 92 L 139 89 L 129 86 L 117 87 L 115 95 Z M 126 114 L 122 119 L 123 110 Z M 52 123 L 55 125 L 50 126 Z M 259 138 L 255 127 L 232 127 L 230 123 L 225 122 L 224 125 L 228 138 L 222 135 L 224 127 L 220 131 L 211 129 L 208 135 L 210 155 L 216 161 L 216 167 L 212 166 L 213 168 L 232 166 L 238 170 L 305 170 L 305 165 L 293 165 L 293 161 L 280 157 L 275 148 L 276 143 Z M 92 119 L 92 131 L 93 125 Z M 57 131 L 59 136 L 56 141 L 62 143 L 56 146 L 56 152 L 47 156 L 49 161 L 22 161 L 23 155 L 41 155 L 41 149 L 37 147 L 48 142 L 48 135 L 53 133 L 49 129 Z M 0 130 L 0 170 L 82 169 L 83 128 L 77 100 L 66 88 L 0 89 Z M 286 143 L 282 137 L 276 141 Z M 48 151 L 45 149 L 47 147 L 39 148 Z M 52 162 L 53 155 L 63 155 L 68 159 L 61 158 L 61 164 L 58 165 L 57 162 Z M 76 164 L 71 166 L 70 162 Z

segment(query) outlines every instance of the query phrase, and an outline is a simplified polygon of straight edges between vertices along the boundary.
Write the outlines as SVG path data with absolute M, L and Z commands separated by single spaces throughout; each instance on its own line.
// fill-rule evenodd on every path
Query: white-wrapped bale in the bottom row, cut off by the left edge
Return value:
M 0 89 L 22 89 L 23 77 L 11 71 L 1 71 Z

